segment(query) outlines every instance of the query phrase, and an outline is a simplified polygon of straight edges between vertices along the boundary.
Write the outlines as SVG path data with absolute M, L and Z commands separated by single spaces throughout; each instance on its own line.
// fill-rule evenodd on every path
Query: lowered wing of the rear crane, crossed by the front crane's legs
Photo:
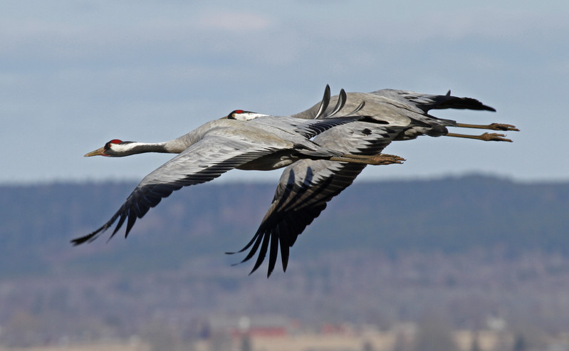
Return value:
M 323 147 L 352 154 L 379 154 L 400 131 L 371 122 L 353 122 L 334 127 L 314 138 Z M 281 248 L 283 270 L 288 265 L 289 248 L 308 224 L 320 215 L 328 201 L 353 183 L 365 164 L 301 159 L 284 169 L 275 196 L 253 239 L 239 252 L 249 249 L 241 261 L 259 252 L 251 273 L 268 252 L 268 272 L 275 267 Z

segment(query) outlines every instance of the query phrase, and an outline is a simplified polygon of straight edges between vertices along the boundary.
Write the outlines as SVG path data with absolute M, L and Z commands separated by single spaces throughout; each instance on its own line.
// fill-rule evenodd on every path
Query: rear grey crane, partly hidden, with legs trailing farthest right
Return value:
M 335 105 L 330 105 L 330 102 Z M 350 115 L 371 116 L 376 123 L 355 122 L 327 130 L 314 138 L 322 147 L 330 147 L 350 154 L 370 155 L 381 152 L 392 140 L 410 140 L 419 135 L 438 137 L 467 137 L 478 140 L 506 141 L 505 135 L 484 133 L 483 135 L 462 135 L 449 133 L 447 127 L 483 128 L 489 130 L 517 130 L 513 125 L 492 123 L 491 125 L 471 125 L 444 120 L 429 115 L 434 109 L 489 110 L 494 108 L 472 98 L 457 98 L 450 95 L 427 95 L 406 90 L 383 89 L 372 93 L 345 93 L 330 98 L 330 88 L 326 86 L 323 100 L 312 108 L 291 117 L 320 119 L 350 111 Z M 382 122 L 382 124 L 377 124 Z M 365 135 L 353 132 L 366 131 L 384 135 L 383 143 L 370 145 Z M 267 276 L 271 275 L 276 264 L 278 250 L 281 251 L 283 271 L 288 265 L 289 248 L 306 226 L 320 215 L 328 201 L 340 194 L 353 183 L 365 168 L 365 164 L 346 164 L 326 160 L 302 159 L 283 170 L 273 201 L 261 221 L 259 229 L 249 243 L 241 248 L 249 253 L 241 261 L 249 261 L 257 251 L 256 262 L 251 273 L 256 271 L 268 253 Z M 234 253 L 234 252 L 231 252 Z

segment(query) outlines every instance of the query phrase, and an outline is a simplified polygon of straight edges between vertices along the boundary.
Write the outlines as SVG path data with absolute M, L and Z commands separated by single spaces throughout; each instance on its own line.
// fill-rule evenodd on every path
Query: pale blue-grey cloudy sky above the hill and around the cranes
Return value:
M 237 108 L 300 112 L 326 84 L 451 89 L 497 112 L 434 115 L 522 130 L 511 144 L 395 142 L 385 152 L 407 162 L 363 179 L 568 180 L 568 16 L 567 1 L 2 1 L 0 182 L 142 179 L 170 156 L 83 154 L 169 140 Z

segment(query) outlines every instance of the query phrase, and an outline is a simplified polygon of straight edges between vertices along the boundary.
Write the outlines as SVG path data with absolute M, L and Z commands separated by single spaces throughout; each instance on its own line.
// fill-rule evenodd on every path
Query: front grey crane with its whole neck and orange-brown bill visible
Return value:
M 236 110 L 219 120 L 207 122 L 182 137 L 159 143 L 111 140 L 85 156 L 121 157 L 143 152 L 178 153 L 150 172 L 126 199 L 114 216 L 92 233 L 73 239 L 74 245 L 93 241 L 118 219 L 111 238 L 127 221 L 125 236 L 147 211 L 174 190 L 201 184 L 230 169 L 278 169 L 299 159 L 327 159 L 355 164 L 400 163 L 393 155 L 346 154 L 310 140 L 331 127 L 362 120 L 365 117 L 335 117 L 301 120 L 293 117 L 261 115 Z

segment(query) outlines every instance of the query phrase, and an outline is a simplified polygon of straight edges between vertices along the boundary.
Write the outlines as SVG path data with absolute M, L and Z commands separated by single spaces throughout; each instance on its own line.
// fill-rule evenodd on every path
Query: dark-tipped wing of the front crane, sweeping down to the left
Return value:
M 73 245 L 97 239 L 100 234 L 118 224 L 111 234 L 112 238 L 127 221 L 125 237 L 147 211 L 169 197 L 174 190 L 189 185 L 201 184 L 219 177 L 224 172 L 241 164 L 257 159 L 278 150 L 276 145 L 262 142 L 250 143 L 246 140 L 233 140 L 229 137 L 206 136 L 199 142 L 170 159 L 161 167 L 148 174 L 130 194 L 115 215 L 93 233 L 73 239 Z

